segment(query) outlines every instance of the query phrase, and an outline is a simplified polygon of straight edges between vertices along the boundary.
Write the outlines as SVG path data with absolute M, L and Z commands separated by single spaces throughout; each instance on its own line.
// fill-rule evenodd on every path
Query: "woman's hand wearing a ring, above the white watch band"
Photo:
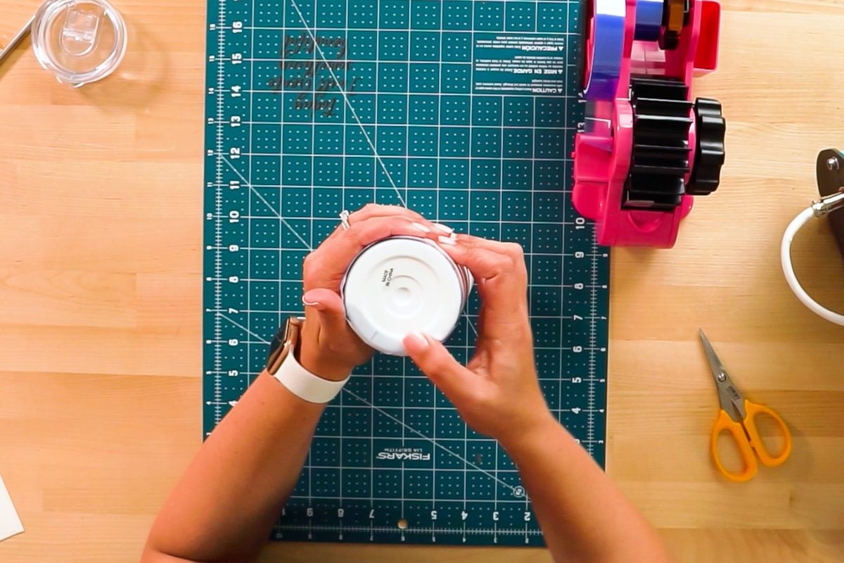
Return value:
M 299 361 L 306 370 L 326 379 L 341 380 L 355 365 L 369 360 L 372 349 L 349 328 L 340 282 L 349 263 L 373 242 L 394 235 L 436 240 L 451 233 L 444 225 L 394 205 L 371 203 L 349 215 L 349 229 L 338 227 L 311 252 L 303 265 L 302 328 Z

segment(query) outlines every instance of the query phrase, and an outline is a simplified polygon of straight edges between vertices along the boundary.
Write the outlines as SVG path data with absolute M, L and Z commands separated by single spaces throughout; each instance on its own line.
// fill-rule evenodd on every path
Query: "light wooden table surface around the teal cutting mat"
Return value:
M 683 561 L 844 560 L 844 328 L 803 309 L 779 266 L 844 149 L 844 2 L 728 0 L 717 73 L 727 164 L 670 251 L 613 252 L 609 474 Z M 138 559 L 200 443 L 203 0 L 116 0 L 115 76 L 83 89 L 0 68 L 0 475 L 26 532 L 6 563 Z M 0 44 L 35 2 L 0 0 Z M 844 310 L 819 223 L 796 242 L 814 295 Z M 791 459 L 719 478 L 702 327 L 751 398 L 793 430 Z M 284 544 L 262 560 L 545 561 L 539 549 Z

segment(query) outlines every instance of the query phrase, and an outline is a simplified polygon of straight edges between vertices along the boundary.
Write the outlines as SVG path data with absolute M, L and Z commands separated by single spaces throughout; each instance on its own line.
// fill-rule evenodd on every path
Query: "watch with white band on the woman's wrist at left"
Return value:
M 299 345 L 302 317 L 289 317 L 284 327 L 273 337 L 269 345 L 267 365 L 264 369 L 287 387 L 289 392 L 309 403 L 328 403 L 349 381 L 349 377 L 335 382 L 312 374 L 296 360 L 295 350 Z

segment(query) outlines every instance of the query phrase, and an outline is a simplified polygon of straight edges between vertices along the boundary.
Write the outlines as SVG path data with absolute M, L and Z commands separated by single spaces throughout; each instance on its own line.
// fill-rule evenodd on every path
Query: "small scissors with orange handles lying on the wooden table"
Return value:
M 788 431 L 786 423 L 773 410 L 765 405 L 758 403 L 751 403 L 748 399 L 738 392 L 738 389 L 733 385 L 733 381 L 727 374 L 727 370 L 718 360 L 715 350 L 706 339 L 706 334 L 701 330 L 701 341 L 703 342 L 703 349 L 706 350 L 706 358 L 709 360 L 709 365 L 712 368 L 712 376 L 715 378 L 715 385 L 718 388 L 718 399 L 721 401 L 721 412 L 718 414 L 715 425 L 712 427 L 712 434 L 710 437 L 710 452 L 712 460 L 718 471 L 731 481 L 741 482 L 753 479 L 756 474 L 758 464 L 756 457 L 759 457 L 760 462 L 768 467 L 776 467 L 781 465 L 791 455 L 792 438 L 791 432 Z M 756 417 L 759 414 L 766 414 L 776 422 L 782 433 L 785 442 L 782 447 L 782 452 L 773 455 L 765 446 L 759 435 L 759 430 L 756 428 Z M 733 436 L 738 452 L 744 461 L 744 469 L 738 472 L 728 471 L 721 463 L 721 457 L 718 454 L 718 436 L 722 432 L 727 432 Z M 755 452 L 755 455 L 754 455 Z

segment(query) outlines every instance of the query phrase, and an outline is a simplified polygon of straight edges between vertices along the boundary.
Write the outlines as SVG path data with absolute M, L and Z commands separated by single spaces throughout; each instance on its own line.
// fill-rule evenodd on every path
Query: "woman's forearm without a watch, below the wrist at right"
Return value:
M 672 560 L 651 525 L 555 420 L 504 446 L 557 563 Z

